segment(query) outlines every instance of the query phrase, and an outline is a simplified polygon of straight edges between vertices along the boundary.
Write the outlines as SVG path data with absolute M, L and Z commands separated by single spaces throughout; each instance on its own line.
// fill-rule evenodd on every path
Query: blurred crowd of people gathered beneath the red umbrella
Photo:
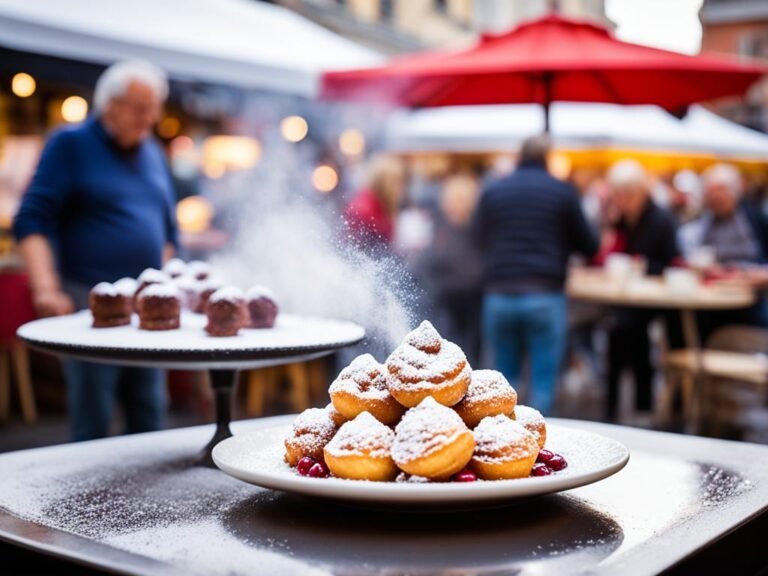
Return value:
M 390 182 L 398 185 L 377 187 L 387 180 L 379 174 L 364 192 L 367 210 L 355 198 L 346 213 L 353 229 L 376 238 L 379 249 L 405 252 L 427 293 L 426 313 L 470 351 L 470 360 L 527 388 L 528 402 L 545 414 L 555 411 L 567 350 L 584 336 L 583 320 L 578 332 L 569 322 L 564 287 L 570 266 L 603 266 L 620 253 L 650 275 L 695 267 L 707 279 L 729 276 L 758 290 L 768 275 L 768 214 L 762 198 L 747 194 L 735 166 L 715 164 L 664 182 L 626 159 L 584 184 L 552 176 L 549 157 L 548 139 L 532 137 L 511 173 L 485 179 L 451 174 L 433 201 L 418 206 L 408 200 L 404 164 L 389 158 Z M 374 170 L 386 166 L 377 159 Z M 381 207 L 373 218 L 370 204 L 376 203 Z M 402 210 L 399 217 L 393 206 Z M 403 250 L 398 236 L 424 237 L 406 229 L 414 225 L 428 228 L 429 240 Z M 709 256 L 705 264 L 702 254 Z M 619 307 L 605 318 L 601 311 L 586 322 L 587 337 L 598 325 L 607 331 L 604 416 L 617 418 L 626 370 L 634 380 L 636 412 L 650 413 L 655 371 L 649 326 L 662 320 L 667 345 L 680 347 L 679 319 Z M 702 340 L 726 324 L 768 327 L 768 303 L 758 296 L 751 308 L 700 313 L 698 319 Z

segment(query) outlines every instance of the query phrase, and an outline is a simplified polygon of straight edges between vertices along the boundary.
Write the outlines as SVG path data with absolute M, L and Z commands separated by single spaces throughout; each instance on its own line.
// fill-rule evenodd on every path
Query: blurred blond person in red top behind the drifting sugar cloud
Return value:
M 395 237 L 395 218 L 405 190 L 405 167 L 395 156 L 375 156 L 366 184 L 344 211 L 354 240 L 364 249 L 387 252 Z

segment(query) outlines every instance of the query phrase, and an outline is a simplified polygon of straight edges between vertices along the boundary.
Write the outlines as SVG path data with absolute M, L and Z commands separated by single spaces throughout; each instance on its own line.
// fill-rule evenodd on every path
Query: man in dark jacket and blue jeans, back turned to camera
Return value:
M 483 341 L 513 385 L 527 353 L 529 402 L 545 414 L 565 352 L 568 260 L 598 248 L 578 194 L 547 171 L 549 151 L 546 136 L 526 139 L 517 169 L 486 187 L 474 222 L 485 254 Z

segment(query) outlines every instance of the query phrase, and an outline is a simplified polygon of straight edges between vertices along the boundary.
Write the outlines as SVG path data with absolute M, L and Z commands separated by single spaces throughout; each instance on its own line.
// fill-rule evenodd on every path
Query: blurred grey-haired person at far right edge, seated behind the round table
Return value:
M 739 271 L 768 263 L 768 217 L 759 208 L 743 201 L 744 182 L 731 164 L 715 164 L 702 174 L 704 214 L 680 228 L 683 253 L 696 264 L 697 252 L 714 256 L 705 273 L 719 275 L 728 268 Z M 712 311 L 698 314 L 702 338 L 726 324 L 768 326 L 768 302 L 758 298 L 743 310 Z

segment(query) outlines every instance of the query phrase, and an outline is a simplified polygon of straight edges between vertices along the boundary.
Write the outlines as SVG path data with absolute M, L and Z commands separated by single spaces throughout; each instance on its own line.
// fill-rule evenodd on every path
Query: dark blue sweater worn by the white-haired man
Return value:
M 62 281 L 92 286 L 158 268 L 176 245 L 173 185 L 157 142 L 118 148 L 101 122 L 55 132 L 13 224 L 46 236 Z

